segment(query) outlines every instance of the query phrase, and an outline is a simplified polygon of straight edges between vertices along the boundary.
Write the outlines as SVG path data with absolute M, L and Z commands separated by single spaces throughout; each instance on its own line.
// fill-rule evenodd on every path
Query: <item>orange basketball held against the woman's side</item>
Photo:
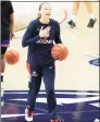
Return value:
M 63 44 L 57 44 L 51 49 L 51 56 L 55 60 L 65 60 L 67 54 L 68 50 Z

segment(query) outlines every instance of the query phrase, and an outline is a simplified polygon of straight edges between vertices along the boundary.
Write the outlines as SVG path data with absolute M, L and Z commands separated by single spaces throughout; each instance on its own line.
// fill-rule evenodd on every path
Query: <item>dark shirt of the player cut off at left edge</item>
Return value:
M 1 1 L 1 41 L 10 39 L 10 15 L 13 12 L 11 1 Z

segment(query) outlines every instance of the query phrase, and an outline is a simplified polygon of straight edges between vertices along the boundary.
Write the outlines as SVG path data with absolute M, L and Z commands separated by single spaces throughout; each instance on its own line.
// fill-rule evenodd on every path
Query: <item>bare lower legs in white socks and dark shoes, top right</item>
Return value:
M 87 27 L 92 28 L 97 19 L 95 17 L 93 10 L 92 10 L 92 7 L 91 7 L 91 2 L 86 1 L 85 5 L 86 5 L 87 11 L 89 13 L 89 23 L 88 23 Z M 74 5 L 73 5 L 73 15 L 72 15 L 71 20 L 67 22 L 67 24 L 71 27 L 76 27 L 76 19 L 77 19 L 78 8 L 79 8 L 79 1 L 75 1 Z

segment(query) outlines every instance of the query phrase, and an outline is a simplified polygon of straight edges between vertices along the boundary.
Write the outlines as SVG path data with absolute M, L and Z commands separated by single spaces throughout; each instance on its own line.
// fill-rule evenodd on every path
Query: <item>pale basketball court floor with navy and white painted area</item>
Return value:
M 18 26 L 25 22 L 28 25 L 28 22 L 36 17 L 38 4 L 39 2 L 13 2 Z M 77 27 L 70 28 L 66 22 L 71 16 L 72 4 L 72 2 L 52 3 L 52 17 L 61 23 L 61 38 L 68 48 L 67 59 L 55 63 L 55 96 L 59 120 L 60 122 L 99 122 L 99 2 L 92 3 L 97 17 L 93 28 L 87 27 L 89 19 L 83 2 L 77 15 Z M 26 7 L 28 7 L 27 11 Z M 15 65 L 7 64 L 1 122 L 25 121 L 24 109 L 27 105 L 28 72 L 26 70 L 27 48 L 22 48 L 21 45 L 24 32 L 25 29 L 15 32 L 16 38 L 11 44 L 11 48 L 16 49 L 21 58 Z M 35 122 L 49 122 L 43 82 L 35 110 Z

